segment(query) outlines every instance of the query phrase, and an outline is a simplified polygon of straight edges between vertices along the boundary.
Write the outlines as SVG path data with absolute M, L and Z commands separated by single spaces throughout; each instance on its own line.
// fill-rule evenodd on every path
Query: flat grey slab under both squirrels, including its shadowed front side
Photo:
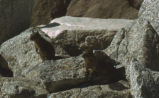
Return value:
M 114 62 L 114 61 L 112 61 Z M 31 69 L 26 77 L 42 81 L 49 92 L 59 92 L 71 88 L 85 87 L 90 85 L 114 83 L 124 79 L 124 70 L 117 69 L 111 76 L 85 77 L 81 56 L 70 57 L 61 60 L 45 61 Z

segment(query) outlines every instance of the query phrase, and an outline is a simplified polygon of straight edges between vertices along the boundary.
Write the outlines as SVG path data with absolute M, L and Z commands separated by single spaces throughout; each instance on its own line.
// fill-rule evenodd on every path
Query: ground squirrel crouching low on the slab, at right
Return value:
M 102 51 L 84 50 L 82 53 L 84 58 L 84 66 L 86 68 L 86 76 L 109 75 L 116 71 L 114 65 L 116 61 L 112 60 Z

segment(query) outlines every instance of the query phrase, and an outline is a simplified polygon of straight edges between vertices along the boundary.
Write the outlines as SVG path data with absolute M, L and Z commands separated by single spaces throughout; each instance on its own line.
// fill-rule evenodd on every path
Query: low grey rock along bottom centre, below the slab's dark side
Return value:
M 128 85 L 119 81 L 110 85 L 98 85 L 85 88 L 76 88 L 49 95 L 48 98 L 133 98 Z

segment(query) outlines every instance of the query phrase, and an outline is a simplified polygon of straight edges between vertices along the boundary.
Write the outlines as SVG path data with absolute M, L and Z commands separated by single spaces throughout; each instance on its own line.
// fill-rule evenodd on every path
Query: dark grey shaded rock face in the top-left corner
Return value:
M 0 44 L 30 25 L 33 0 L 0 1 Z

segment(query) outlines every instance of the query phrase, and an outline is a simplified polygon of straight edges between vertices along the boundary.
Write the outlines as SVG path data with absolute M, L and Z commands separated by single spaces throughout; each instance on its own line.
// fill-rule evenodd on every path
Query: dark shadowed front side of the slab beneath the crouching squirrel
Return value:
M 124 70 L 125 72 L 125 70 Z M 49 81 L 45 82 L 46 89 L 50 93 L 69 90 L 72 88 L 84 88 L 93 85 L 103 85 L 115 83 L 119 80 L 125 79 L 125 74 L 123 75 L 123 68 L 117 69 L 116 73 L 110 76 L 98 76 L 92 78 L 78 78 L 78 79 L 65 79 L 59 81 Z

